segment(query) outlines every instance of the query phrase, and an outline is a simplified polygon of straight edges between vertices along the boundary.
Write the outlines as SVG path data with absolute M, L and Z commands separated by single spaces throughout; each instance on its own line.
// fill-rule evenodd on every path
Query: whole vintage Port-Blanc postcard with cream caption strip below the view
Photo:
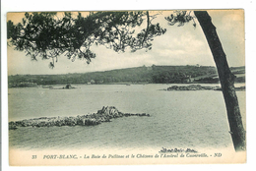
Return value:
M 246 162 L 243 10 L 7 14 L 9 164 Z

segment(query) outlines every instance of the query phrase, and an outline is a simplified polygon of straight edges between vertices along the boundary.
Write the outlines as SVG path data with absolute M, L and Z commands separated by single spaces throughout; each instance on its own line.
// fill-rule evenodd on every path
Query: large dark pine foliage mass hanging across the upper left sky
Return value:
M 152 48 L 152 40 L 165 32 L 160 24 L 153 24 L 155 16 L 149 12 L 92 12 L 84 17 L 78 13 L 26 13 L 23 22 L 14 25 L 8 21 L 9 43 L 16 50 L 25 51 L 32 60 L 37 57 L 52 59 L 50 67 L 54 67 L 58 56 L 65 54 L 74 61 L 76 58 L 86 59 L 88 63 L 96 57 L 90 47 L 93 44 L 104 45 L 114 51 L 133 52 Z M 143 22 L 147 27 L 140 32 L 135 28 Z

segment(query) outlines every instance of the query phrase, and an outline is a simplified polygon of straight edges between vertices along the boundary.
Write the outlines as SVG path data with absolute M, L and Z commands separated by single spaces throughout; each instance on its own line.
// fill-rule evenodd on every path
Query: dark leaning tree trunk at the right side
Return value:
M 218 37 L 216 27 L 212 24 L 211 17 L 206 11 L 195 11 L 194 14 L 205 33 L 217 66 L 234 149 L 235 151 L 245 150 L 246 133 L 242 125 L 238 100 L 233 85 L 235 77 L 229 70 L 222 43 Z

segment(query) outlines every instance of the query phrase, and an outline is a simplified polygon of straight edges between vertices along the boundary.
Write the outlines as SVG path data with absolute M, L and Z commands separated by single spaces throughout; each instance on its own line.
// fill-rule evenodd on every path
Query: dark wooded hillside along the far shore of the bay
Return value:
M 245 67 L 231 67 L 235 83 L 245 83 Z M 92 73 L 60 75 L 11 75 L 8 87 L 46 85 L 147 85 L 147 84 L 219 84 L 211 66 L 142 66 Z

